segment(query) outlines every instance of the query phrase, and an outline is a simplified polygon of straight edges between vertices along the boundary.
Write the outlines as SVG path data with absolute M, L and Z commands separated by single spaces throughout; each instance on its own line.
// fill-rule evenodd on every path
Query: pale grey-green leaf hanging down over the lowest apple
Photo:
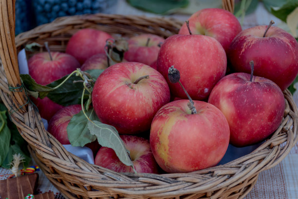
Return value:
M 97 137 L 100 145 L 112 148 L 121 162 L 133 167 L 129 156 L 130 152 L 125 148 L 115 127 L 103 124 L 100 121 L 88 121 L 88 129 L 92 135 Z

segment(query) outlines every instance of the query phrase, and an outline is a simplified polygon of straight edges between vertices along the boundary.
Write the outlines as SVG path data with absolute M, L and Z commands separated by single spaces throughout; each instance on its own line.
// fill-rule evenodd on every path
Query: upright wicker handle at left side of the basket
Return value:
M 18 56 L 15 43 L 16 0 L 0 0 L 0 58 L 17 108 L 27 103 L 19 77 Z M 24 110 L 24 109 L 23 109 Z

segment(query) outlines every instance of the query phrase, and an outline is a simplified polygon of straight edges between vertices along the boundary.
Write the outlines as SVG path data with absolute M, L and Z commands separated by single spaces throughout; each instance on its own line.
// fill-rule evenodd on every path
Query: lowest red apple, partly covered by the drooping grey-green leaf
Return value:
M 149 140 L 131 135 L 120 135 L 137 173 L 158 173 L 158 166 L 150 149 Z M 116 172 L 133 172 L 131 166 L 123 164 L 116 153 L 108 147 L 101 147 L 96 154 L 94 164 Z

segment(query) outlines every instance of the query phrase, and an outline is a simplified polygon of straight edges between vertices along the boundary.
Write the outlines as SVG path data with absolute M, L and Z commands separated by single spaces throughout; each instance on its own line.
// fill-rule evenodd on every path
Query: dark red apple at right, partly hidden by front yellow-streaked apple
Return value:
M 247 146 L 272 134 L 283 118 L 285 101 L 271 80 L 246 73 L 233 73 L 211 91 L 209 103 L 219 108 L 230 126 L 230 143 Z

